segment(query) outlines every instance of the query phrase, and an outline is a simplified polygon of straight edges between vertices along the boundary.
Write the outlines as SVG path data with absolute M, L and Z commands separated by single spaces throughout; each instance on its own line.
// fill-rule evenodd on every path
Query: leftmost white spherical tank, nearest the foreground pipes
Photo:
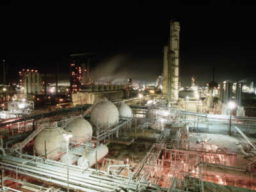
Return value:
M 65 148 L 66 142 L 63 139 L 63 132 L 60 127 L 45 128 L 35 138 L 35 151 L 38 156 L 45 156 L 45 148 L 47 158 L 52 158 L 58 153 L 57 148 Z

